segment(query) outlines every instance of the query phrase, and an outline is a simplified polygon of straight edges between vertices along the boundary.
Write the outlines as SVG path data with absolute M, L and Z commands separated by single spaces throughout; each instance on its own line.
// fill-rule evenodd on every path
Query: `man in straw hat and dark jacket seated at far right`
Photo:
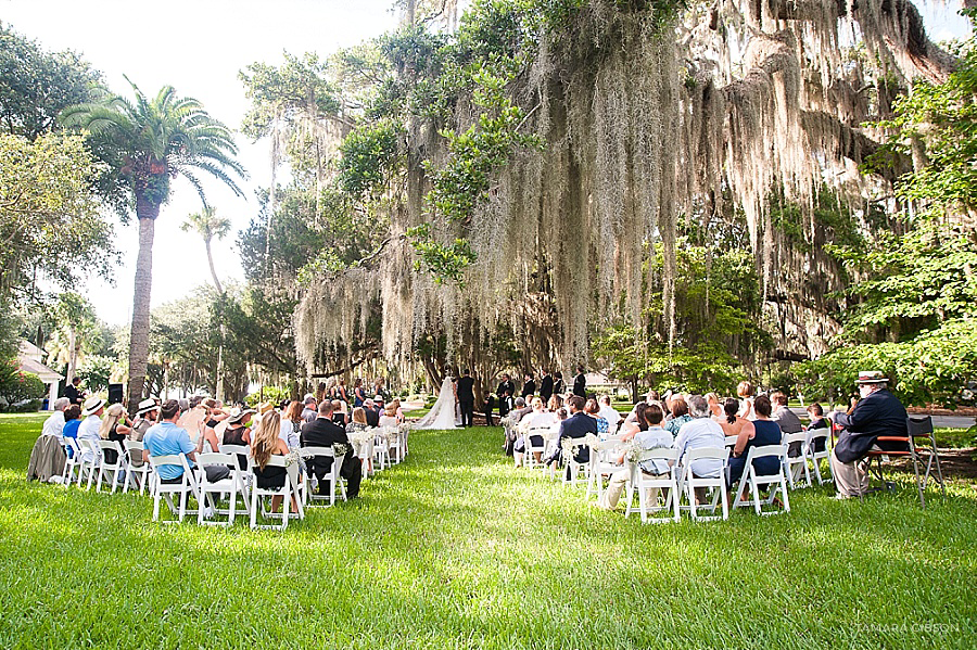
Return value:
M 860 372 L 857 383 L 861 396 L 858 404 L 847 413 L 832 413 L 832 421 L 843 428 L 830 457 L 837 498 L 868 492 L 868 463 L 864 459 L 872 449 L 883 450 L 876 441 L 878 436 L 906 435 L 905 407 L 889 392 L 885 373 Z

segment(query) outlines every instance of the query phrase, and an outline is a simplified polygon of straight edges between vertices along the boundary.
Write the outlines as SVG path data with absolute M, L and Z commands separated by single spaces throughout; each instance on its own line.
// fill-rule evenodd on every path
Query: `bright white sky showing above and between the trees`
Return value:
M 393 0 L 0 0 L 0 21 L 47 50 L 79 52 L 115 92 L 127 94 L 123 75 L 149 95 L 169 85 L 237 129 L 249 106 L 240 71 L 258 61 L 278 65 L 284 50 L 328 56 L 379 36 L 396 25 L 392 4 Z M 967 34 L 966 22 L 955 14 L 955 0 L 922 4 L 934 40 Z M 240 183 L 245 197 L 204 179 L 208 203 L 233 225 L 234 234 L 214 244 L 221 282 L 243 279 L 236 233 L 258 209 L 255 190 L 268 187 L 270 180 L 267 142 L 252 143 L 238 133 L 237 143 L 250 175 Z M 193 188 L 182 179 L 175 181 L 174 196 L 156 221 L 153 307 L 211 282 L 203 242 L 179 228 L 200 208 Z M 129 226 L 118 225 L 114 216 L 110 219 L 116 224 L 124 264 L 115 271 L 114 284 L 92 279 L 84 293 L 102 320 L 117 326 L 128 323 L 131 316 L 138 232 L 135 219 Z

